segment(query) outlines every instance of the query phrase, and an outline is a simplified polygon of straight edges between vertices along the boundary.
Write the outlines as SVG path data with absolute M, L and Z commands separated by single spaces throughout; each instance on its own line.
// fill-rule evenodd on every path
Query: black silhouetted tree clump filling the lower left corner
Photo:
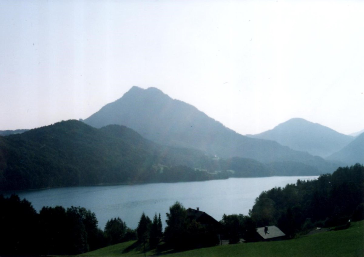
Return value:
M 83 207 L 43 207 L 37 213 L 19 196 L 0 195 L 0 256 L 74 255 L 136 240 L 120 218 L 99 229 L 95 213 Z

